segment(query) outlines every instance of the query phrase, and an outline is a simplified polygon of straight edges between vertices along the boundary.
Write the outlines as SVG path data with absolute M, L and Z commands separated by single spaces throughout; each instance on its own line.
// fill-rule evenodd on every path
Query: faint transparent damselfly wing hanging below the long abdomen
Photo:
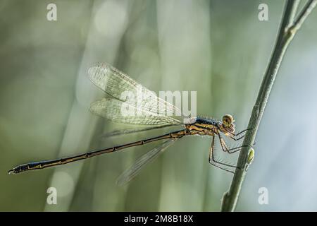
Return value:
M 170 145 L 172 145 L 176 140 L 168 140 L 164 141 L 160 145 L 156 146 L 152 150 L 149 150 L 149 152 L 145 153 L 139 159 L 128 169 L 123 172 L 123 174 L 118 177 L 117 184 L 118 186 L 123 186 L 125 184 L 128 184 L 131 179 L 133 179 L 137 174 L 140 172 L 140 170 L 147 165 L 147 163 L 153 161 L 156 159 L 156 157 L 159 156 L 160 153 L 163 153 L 166 148 L 168 148 Z

